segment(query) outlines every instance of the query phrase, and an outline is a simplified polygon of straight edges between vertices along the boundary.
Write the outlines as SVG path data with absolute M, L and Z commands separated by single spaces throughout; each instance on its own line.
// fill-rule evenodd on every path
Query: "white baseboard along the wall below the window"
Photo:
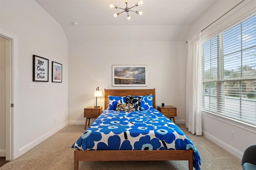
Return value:
M 205 131 L 202 131 L 202 135 L 212 141 L 213 143 L 217 144 L 218 146 L 222 147 L 223 149 L 227 150 L 234 156 L 238 157 L 239 159 L 242 159 L 243 153 L 239 150 L 235 149 L 234 147 L 228 145 L 227 143 L 221 141 L 220 139 L 212 136 L 210 133 L 207 133 Z

